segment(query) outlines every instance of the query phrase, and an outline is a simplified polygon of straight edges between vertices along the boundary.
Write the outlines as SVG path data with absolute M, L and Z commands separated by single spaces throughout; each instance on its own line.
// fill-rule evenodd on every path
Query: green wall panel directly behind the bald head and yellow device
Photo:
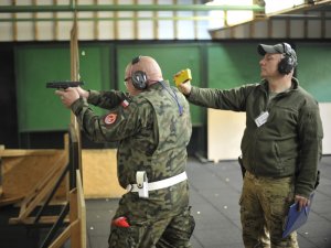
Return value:
M 184 68 L 190 68 L 193 82 L 200 85 L 201 72 L 201 46 L 199 45 L 120 45 L 117 48 L 118 67 L 117 75 L 119 78 L 119 88 L 125 90 L 124 77 L 125 68 L 131 60 L 138 55 L 153 57 L 160 65 L 163 78 L 168 79 L 171 85 L 173 75 Z M 195 84 L 195 83 L 194 83 Z M 191 116 L 194 126 L 203 125 L 203 109 L 191 105 Z

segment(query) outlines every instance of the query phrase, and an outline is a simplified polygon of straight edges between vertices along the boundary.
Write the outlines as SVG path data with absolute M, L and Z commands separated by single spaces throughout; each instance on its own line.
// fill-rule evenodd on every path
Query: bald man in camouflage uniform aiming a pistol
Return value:
M 127 193 L 113 218 L 109 248 L 191 247 L 186 145 L 192 133 L 185 97 L 163 80 L 158 63 L 139 56 L 121 91 L 56 90 L 93 141 L 119 141 L 119 184 Z M 88 104 L 108 109 L 97 116 Z M 97 166 L 97 164 L 96 164 Z

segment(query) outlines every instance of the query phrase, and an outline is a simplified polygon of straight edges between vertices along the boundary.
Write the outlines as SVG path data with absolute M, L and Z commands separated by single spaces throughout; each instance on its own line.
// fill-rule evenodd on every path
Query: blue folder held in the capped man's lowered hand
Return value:
M 313 193 L 310 195 L 310 204 L 307 207 L 302 207 L 298 211 L 298 204 L 295 203 L 289 207 L 286 225 L 282 231 L 282 238 L 287 237 L 290 233 L 297 230 L 301 227 L 308 219 L 311 203 L 313 198 Z

